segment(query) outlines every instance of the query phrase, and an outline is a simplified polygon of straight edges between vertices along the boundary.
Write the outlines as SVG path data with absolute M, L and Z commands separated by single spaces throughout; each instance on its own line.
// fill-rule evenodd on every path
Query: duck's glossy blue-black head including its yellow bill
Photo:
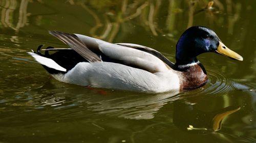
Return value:
M 214 31 L 204 26 L 193 26 L 181 35 L 176 45 L 176 64 L 187 65 L 198 62 L 197 56 L 205 52 L 215 52 L 243 61 L 243 57 L 228 49 Z

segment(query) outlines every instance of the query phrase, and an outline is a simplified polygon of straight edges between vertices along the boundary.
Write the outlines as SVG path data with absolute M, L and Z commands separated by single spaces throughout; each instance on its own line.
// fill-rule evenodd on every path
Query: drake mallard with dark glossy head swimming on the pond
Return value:
M 36 52 L 28 53 L 55 79 L 94 88 L 150 93 L 195 89 L 207 81 L 205 68 L 197 59 L 199 54 L 215 52 L 243 61 L 241 55 L 228 49 L 214 31 L 204 26 L 190 27 L 181 35 L 176 44 L 175 64 L 157 50 L 142 45 L 49 33 L 70 48 L 41 49 L 41 45 Z

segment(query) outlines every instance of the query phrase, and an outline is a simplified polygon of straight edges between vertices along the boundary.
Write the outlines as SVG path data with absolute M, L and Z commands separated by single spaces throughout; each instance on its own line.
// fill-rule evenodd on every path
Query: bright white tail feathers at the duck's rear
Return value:
M 56 69 L 59 71 L 66 72 L 67 70 L 60 65 L 58 65 L 56 62 L 54 62 L 52 59 L 45 58 L 44 56 L 40 56 L 39 54 L 33 53 L 33 52 L 28 52 L 33 58 L 40 64 L 45 65 L 49 68 Z

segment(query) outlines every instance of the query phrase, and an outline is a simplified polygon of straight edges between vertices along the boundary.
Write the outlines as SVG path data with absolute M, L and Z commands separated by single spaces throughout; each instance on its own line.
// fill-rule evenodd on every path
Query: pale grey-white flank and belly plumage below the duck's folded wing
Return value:
M 66 74 L 55 74 L 53 77 L 62 82 L 90 85 L 95 88 L 152 93 L 180 89 L 178 75 L 171 70 L 153 74 L 108 62 L 81 62 Z

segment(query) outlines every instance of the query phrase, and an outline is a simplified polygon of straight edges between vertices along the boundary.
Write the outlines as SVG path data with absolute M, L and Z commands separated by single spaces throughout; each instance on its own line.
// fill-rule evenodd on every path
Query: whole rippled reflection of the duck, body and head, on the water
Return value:
M 162 94 L 131 93 L 125 91 L 113 92 L 111 90 L 101 92 L 100 89 L 88 90 L 73 85 L 69 85 L 69 88 L 63 88 L 63 85 L 66 86 L 66 84 L 61 84 L 61 88 L 57 88 L 58 91 L 55 91 L 56 88 L 49 91 L 48 85 L 49 84 L 46 84 L 44 87 L 41 87 L 40 92 L 46 91 L 45 88 L 47 88 L 48 95 L 52 93 L 48 98 L 54 98 L 52 100 L 61 98 L 62 102 L 39 100 L 40 103 L 37 102 L 37 106 L 50 105 L 54 107 L 53 109 L 65 109 L 63 110 L 63 115 L 62 113 L 59 115 L 62 119 L 77 118 L 78 116 L 79 118 L 86 118 L 87 112 L 91 112 L 90 117 L 93 115 L 105 115 L 132 120 L 161 118 L 156 115 L 164 114 L 166 115 L 164 118 L 169 118 L 170 120 L 168 121 L 173 121 L 173 124 L 177 128 L 189 133 L 201 134 L 220 130 L 222 120 L 240 109 L 239 106 L 228 105 L 225 105 L 225 107 L 224 105 L 218 105 L 218 107 L 210 111 L 205 110 L 204 107 L 207 108 L 207 105 L 204 105 L 202 109 L 202 107 L 198 107 L 198 105 L 205 102 L 205 95 L 199 93 L 192 97 L 190 92 L 183 94 L 179 91 Z M 61 92 L 60 90 L 64 90 L 62 94 L 59 93 Z M 104 95 L 102 95 L 102 93 L 104 93 Z M 47 101 L 51 101 L 51 103 L 46 103 Z M 55 105 L 52 103 L 58 104 Z M 157 114 L 159 109 L 163 106 L 165 106 L 165 110 L 161 110 L 161 112 L 159 112 L 160 114 Z M 170 110 L 167 109 L 166 112 L 166 108 L 170 108 Z M 84 117 L 81 117 L 81 111 L 84 112 Z M 93 117 L 91 118 L 93 119 Z

